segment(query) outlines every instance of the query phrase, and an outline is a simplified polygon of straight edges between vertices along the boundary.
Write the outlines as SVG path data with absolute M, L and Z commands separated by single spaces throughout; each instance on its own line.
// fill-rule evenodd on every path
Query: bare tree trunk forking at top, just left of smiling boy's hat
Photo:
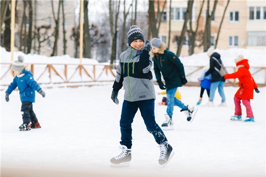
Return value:
M 118 3 L 118 4 L 117 4 Z M 117 29 L 117 23 L 118 23 L 118 15 L 119 15 L 119 8 L 120 8 L 120 0 L 116 1 L 116 9 L 114 9 L 114 5 L 112 5 L 112 0 L 109 0 L 109 14 L 110 14 L 110 28 L 111 28 L 111 35 L 112 35 L 112 50 L 111 50 L 111 58 L 110 58 L 110 64 L 113 64 L 115 59 L 115 49 L 116 49 L 116 38 L 117 33 L 115 32 Z M 115 11 L 115 24 L 113 23 L 113 12 Z

